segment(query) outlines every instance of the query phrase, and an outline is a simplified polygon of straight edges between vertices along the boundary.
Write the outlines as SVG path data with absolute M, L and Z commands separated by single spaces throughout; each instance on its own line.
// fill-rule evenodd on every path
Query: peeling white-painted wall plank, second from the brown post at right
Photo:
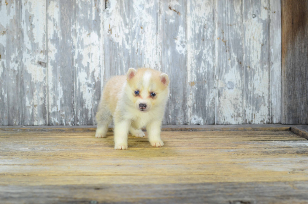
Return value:
M 253 17 L 253 12 L 255 11 L 249 8 L 244 24 L 244 65 L 248 74 L 246 79 L 248 92 L 245 93 L 248 97 L 244 97 L 243 102 L 246 120 L 244 122 L 252 124 L 270 122 L 269 65 L 267 63 L 269 50 L 264 53 L 267 48 L 265 43 L 267 43 L 266 27 L 268 18 L 265 18 L 265 14 L 262 14 L 264 10 L 267 12 L 264 9 L 266 6 L 267 2 L 262 0 L 259 8 L 261 16 L 256 15 L 255 17 Z

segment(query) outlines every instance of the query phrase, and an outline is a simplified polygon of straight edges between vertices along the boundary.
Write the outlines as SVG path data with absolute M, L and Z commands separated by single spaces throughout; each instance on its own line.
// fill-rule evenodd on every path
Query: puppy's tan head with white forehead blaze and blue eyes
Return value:
M 126 74 L 129 88 L 126 93 L 140 112 L 148 112 L 155 107 L 164 106 L 169 95 L 169 77 L 154 69 L 129 68 Z

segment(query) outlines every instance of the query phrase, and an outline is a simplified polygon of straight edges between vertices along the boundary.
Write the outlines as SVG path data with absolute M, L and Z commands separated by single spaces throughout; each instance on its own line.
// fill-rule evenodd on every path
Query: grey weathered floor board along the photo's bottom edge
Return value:
M 219 190 L 217 190 L 219 189 Z M 3 203 L 306 203 L 308 182 L 0 186 Z M 16 193 L 18 192 L 18 193 Z M 48 195 L 48 196 L 47 196 Z M 59 196 L 61 195 L 61 196 Z M 119 195 L 125 195 L 119 196 Z

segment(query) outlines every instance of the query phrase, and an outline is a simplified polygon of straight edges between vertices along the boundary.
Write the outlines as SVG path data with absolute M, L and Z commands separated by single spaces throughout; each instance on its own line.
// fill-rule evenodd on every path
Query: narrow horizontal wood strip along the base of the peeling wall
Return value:
M 244 125 L 162 125 L 162 131 L 284 131 L 291 125 L 244 124 Z M 0 131 L 96 131 L 96 126 L 0 126 Z M 112 128 L 109 128 L 112 131 Z M 146 129 L 144 129 L 146 131 Z

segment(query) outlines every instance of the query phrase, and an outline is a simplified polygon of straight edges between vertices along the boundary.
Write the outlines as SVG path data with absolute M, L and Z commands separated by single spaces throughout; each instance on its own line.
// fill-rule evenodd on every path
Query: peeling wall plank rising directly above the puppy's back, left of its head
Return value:
M 110 76 L 123 75 L 130 63 L 130 15 L 129 1 L 106 1 L 104 10 L 104 63 L 103 83 L 106 84 Z

